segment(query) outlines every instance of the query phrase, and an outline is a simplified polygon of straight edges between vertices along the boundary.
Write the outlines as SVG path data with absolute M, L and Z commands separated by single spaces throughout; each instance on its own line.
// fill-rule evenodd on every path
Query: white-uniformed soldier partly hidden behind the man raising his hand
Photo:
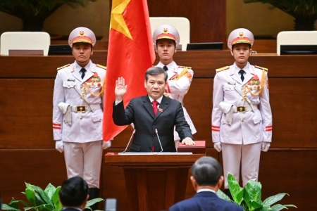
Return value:
M 160 25 L 153 32 L 153 41 L 156 53 L 160 58 L 159 64 L 156 66 L 163 68 L 168 73 L 164 95 L 180 101 L 183 105 L 183 99 L 192 83 L 194 71 L 190 67 L 177 65 L 173 60 L 174 53 L 176 53 L 177 46 L 180 43 L 180 34 L 171 25 Z M 184 106 L 182 106 L 182 109 L 184 110 L 185 119 L 192 130 L 192 134 L 195 134 L 197 131 L 187 110 Z M 177 149 L 180 143 L 180 136 L 178 136 L 175 130 L 174 141 Z

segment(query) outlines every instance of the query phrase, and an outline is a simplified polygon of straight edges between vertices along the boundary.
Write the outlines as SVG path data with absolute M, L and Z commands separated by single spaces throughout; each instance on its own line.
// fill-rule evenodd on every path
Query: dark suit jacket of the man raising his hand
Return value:
M 192 132 L 187 124 L 182 105 L 179 101 L 163 96 L 159 105 L 159 111 L 154 117 L 153 108 L 149 96 L 132 98 L 127 108 L 124 109 L 123 101 L 115 105 L 113 103 L 113 122 L 117 125 L 135 125 L 135 136 L 130 146 L 132 152 L 161 151 L 158 137 L 164 152 L 175 152 L 174 126 L 180 139 L 192 138 Z

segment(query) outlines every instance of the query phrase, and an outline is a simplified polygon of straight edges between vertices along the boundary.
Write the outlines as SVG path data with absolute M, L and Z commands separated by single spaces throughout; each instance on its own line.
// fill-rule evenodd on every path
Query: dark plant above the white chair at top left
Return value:
M 63 4 L 72 8 L 86 6 L 88 1 L 97 0 L 1 0 L 0 11 L 23 20 L 23 31 L 42 31 L 46 18 Z

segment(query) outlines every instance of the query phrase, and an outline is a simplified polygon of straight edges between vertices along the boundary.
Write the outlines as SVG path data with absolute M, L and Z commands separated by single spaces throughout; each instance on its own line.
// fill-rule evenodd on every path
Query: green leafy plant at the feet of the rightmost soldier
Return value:
M 249 180 L 247 186 L 242 188 L 240 187 L 239 182 L 235 179 L 235 177 L 233 177 L 232 174 L 228 174 L 228 186 L 233 198 L 233 202 L 241 205 L 244 211 L 278 211 L 287 209 L 287 207 L 296 207 L 295 205 L 273 205 L 279 200 L 282 200 L 285 195 L 288 195 L 287 193 L 279 193 L 275 196 L 270 196 L 266 198 L 266 200 L 262 201 L 262 185 L 259 181 Z M 217 192 L 217 195 L 219 198 L 232 201 L 227 195 L 225 195 L 225 193 L 220 190 Z

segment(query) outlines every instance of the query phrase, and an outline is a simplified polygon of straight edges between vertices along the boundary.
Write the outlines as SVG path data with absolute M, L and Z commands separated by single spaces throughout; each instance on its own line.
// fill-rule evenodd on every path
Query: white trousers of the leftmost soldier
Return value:
M 102 140 L 86 143 L 64 142 L 67 177 L 79 176 L 89 188 L 99 188 Z

